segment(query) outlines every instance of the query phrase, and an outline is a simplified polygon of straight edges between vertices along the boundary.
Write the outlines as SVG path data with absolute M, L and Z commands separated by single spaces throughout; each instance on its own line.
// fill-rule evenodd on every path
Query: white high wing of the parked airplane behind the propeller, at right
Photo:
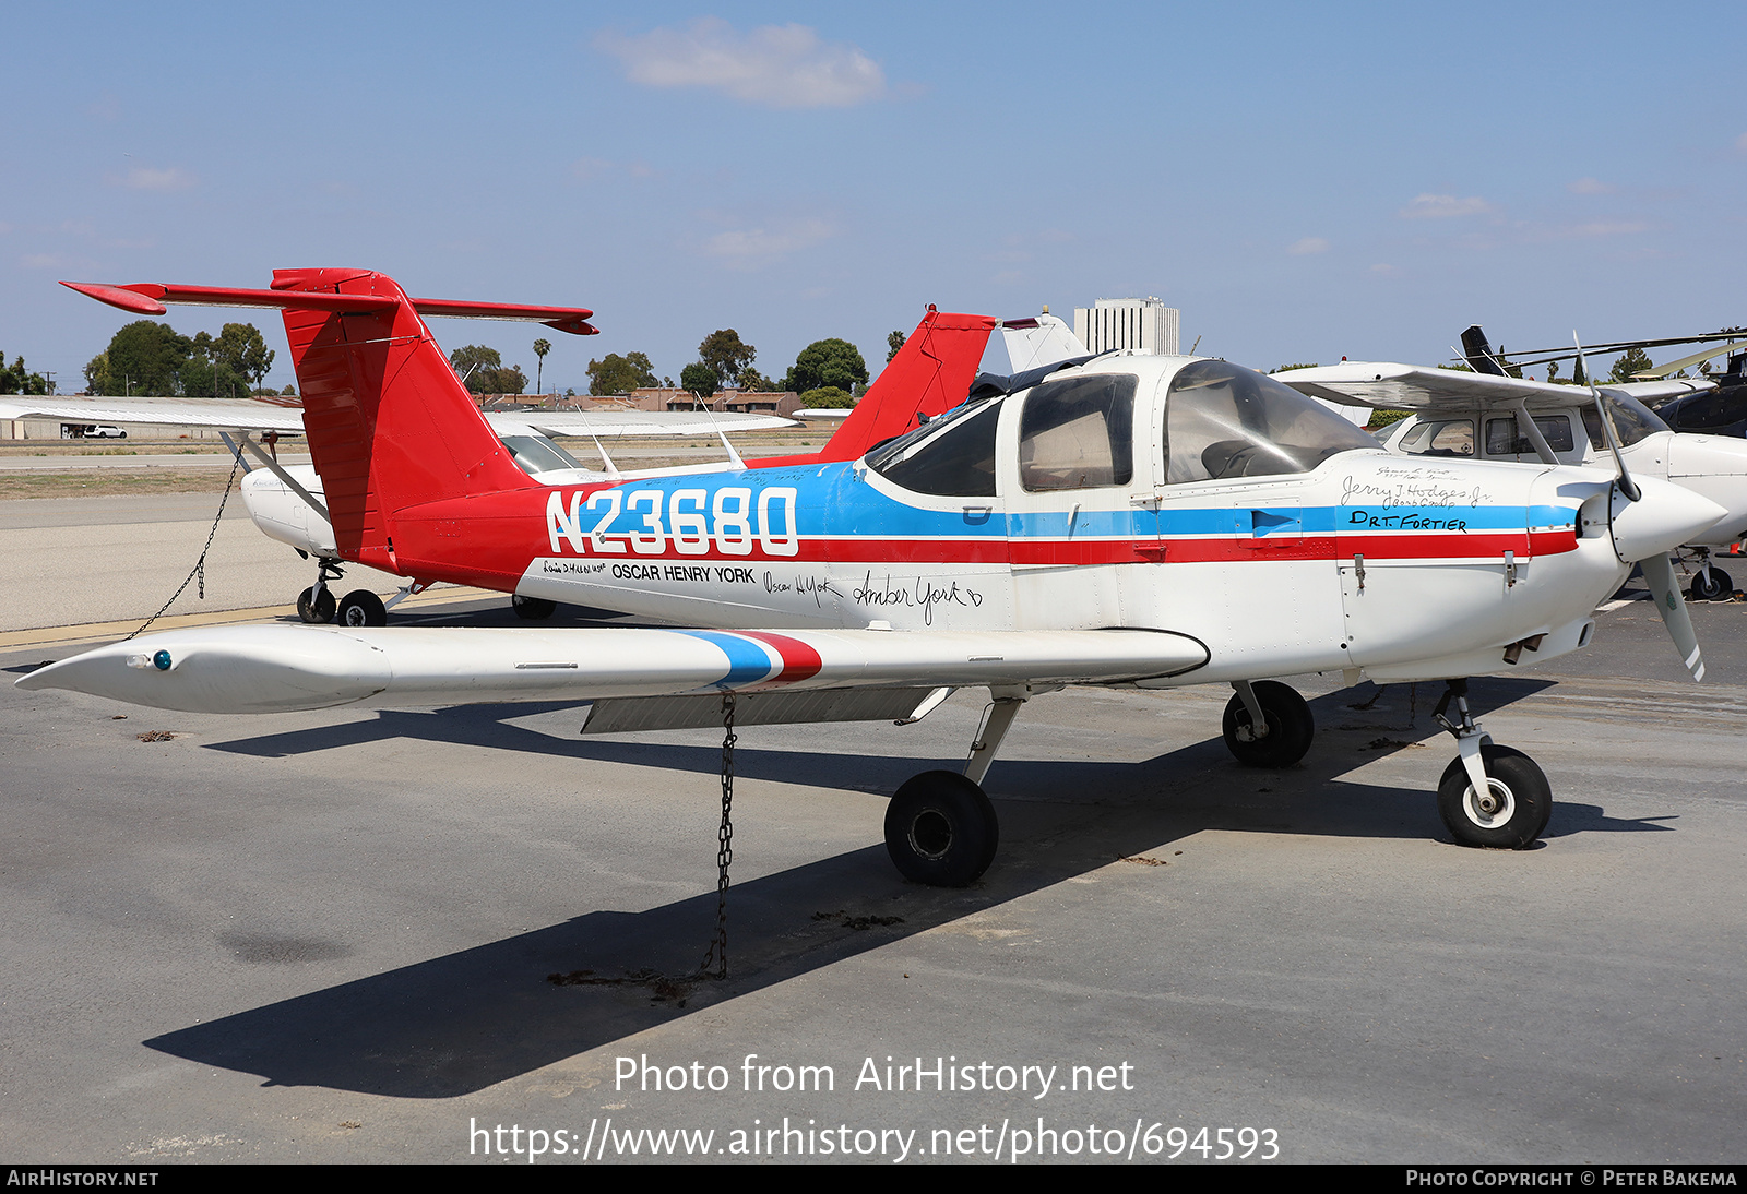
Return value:
M 1317 368 L 1289 368 L 1272 377 L 1274 381 L 1286 382 L 1302 395 L 1345 407 L 1438 410 L 1476 405 L 1515 407 L 1518 401 L 1525 401 L 1534 410 L 1588 401 L 1588 391 L 1579 386 L 1387 361 L 1345 361 Z M 1639 401 L 1672 398 L 1714 388 L 1714 382 L 1703 379 L 1600 386 L 1600 389 L 1611 393 L 1632 395 Z

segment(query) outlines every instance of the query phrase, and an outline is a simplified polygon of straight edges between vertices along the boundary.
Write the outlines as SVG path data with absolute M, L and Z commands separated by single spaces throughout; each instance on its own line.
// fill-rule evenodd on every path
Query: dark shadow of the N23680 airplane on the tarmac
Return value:
M 1476 714 L 1520 700 L 1550 681 L 1476 681 Z M 1020 896 L 1087 875 L 1202 829 L 1448 840 L 1431 793 L 1338 782 L 1377 752 L 1403 749 L 1401 702 L 1356 710 L 1370 688 L 1312 702 L 1324 726 L 1303 765 L 1251 772 L 1209 738 L 1141 763 L 1027 761 L 989 777 L 1001 813 L 1001 854 L 975 887 L 905 883 L 882 845 L 735 883 L 728 896 L 732 976 L 697 981 L 715 927 L 715 892 L 648 911 L 592 911 L 295 998 L 182 1028 L 145 1044 L 201 1065 L 260 1074 L 271 1086 L 325 1086 L 398 1098 L 451 1098 L 622 1040 L 701 1007 L 758 992 L 833 962 L 901 941 Z M 1424 737 L 1429 703 L 1420 695 Z M 550 707 L 549 707 L 550 709 Z M 383 714 L 376 721 L 222 744 L 248 754 L 323 751 L 383 737 L 426 737 L 493 749 L 611 759 L 715 777 L 720 747 L 568 742 L 505 724 L 529 705 Z M 1532 744 L 1525 744 L 1532 745 Z M 1431 756 L 1431 751 L 1426 751 Z M 1440 751 L 1440 756 L 1445 754 Z M 1448 751 L 1454 758 L 1454 751 Z M 926 766 L 926 763 L 922 763 Z M 954 765 L 956 766 L 956 765 Z M 735 751 L 744 779 L 833 786 L 853 773 L 891 791 L 917 759 Z M 1555 831 L 1649 831 L 1647 820 L 1607 819 L 1593 805 L 1560 801 Z M 1452 847 L 1454 848 L 1454 847 Z M 702 868 L 699 880 L 704 882 Z M 819 913 L 826 913 L 819 916 Z M 837 915 L 847 913 L 847 915 Z M 901 918 L 894 923 L 854 918 Z M 618 985 L 554 985 L 589 972 Z

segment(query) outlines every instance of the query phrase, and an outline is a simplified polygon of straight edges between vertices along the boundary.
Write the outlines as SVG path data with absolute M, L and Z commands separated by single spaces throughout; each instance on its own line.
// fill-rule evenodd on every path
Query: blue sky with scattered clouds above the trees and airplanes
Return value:
M 183 5 L 7 12 L 0 349 L 63 391 L 124 321 L 54 283 L 362 265 L 578 304 L 547 381 L 737 328 L 781 377 L 926 304 L 1158 295 L 1184 347 L 1429 363 L 1747 323 L 1747 7 Z M 171 307 L 182 332 L 257 312 Z M 540 332 L 437 321 L 533 374 Z

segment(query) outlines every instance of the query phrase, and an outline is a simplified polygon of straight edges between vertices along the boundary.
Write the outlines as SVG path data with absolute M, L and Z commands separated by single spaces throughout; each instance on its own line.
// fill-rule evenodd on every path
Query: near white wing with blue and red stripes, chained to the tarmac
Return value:
M 1146 683 L 1191 672 L 1207 658 L 1198 639 L 1169 630 L 253 625 L 114 642 L 40 667 L 17 688 L 66 688 L 183 712 L 646 698 L 692 698 L 720 710 L 723 693 L 793 696 L 804 712 L 832 691 L 905 691 L 896 703 L 917 709 L 938 688 Z M 638 728 L 702 724 L 695 716 L 662 721 L 646 705 L 632 709 Z

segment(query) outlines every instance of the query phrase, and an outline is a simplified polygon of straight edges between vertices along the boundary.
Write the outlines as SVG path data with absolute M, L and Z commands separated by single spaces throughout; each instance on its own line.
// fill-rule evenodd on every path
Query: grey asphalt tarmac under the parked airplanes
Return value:
M 197 539 L 152 574 L 126 545 L 157 524 L 119 525 L 131 588 L 168 595 Z M 10 674 L 126 634 L 23 627 L 79 585 L 131 599 L 66 559 L 9 581 Z M 512 621 L 465 592 L 404 618 Z M 5 686 L 0 1140 L 135 1164 L 1738 1161 L 1742 618 L 1695 607 L 1705 684 L 1642 600 L 1474 681 L 1553 784 L 1520 854 L 1448 841 L 1436 686 L 1295 679 L 1319 733 L 1286 772 L 1230 759 L 1228 690 L 1039 696 L 968 890 L 900 880 L 880 824 L 903 779 L 959 766 L 978 695 L 742 730 L 725 981 L 695 978 L 718 733 Z

